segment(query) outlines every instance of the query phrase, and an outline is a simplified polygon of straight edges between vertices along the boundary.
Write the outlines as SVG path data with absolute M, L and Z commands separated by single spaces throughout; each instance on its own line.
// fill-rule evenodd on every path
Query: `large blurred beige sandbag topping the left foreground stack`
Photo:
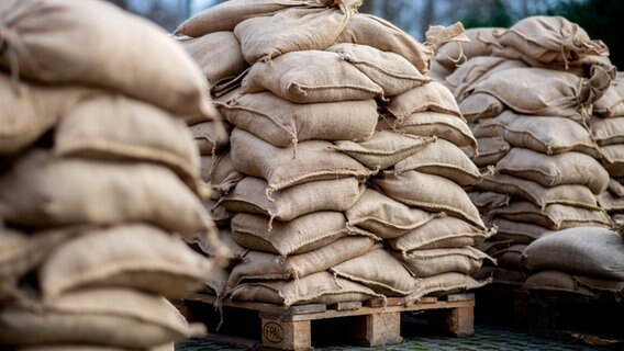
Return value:
M 2 8 L 0 66 L 10 71 L 119 91 L 187 122 L 218 117 L 199 67 L 155 23 L 96 0 L 11 0 Z

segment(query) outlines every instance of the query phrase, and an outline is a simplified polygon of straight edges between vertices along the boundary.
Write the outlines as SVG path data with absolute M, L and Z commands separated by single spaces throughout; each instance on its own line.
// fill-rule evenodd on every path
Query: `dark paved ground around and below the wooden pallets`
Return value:
M 555 339 L 542 338 L 527 335 L 522 331 L 503 329 L 488 325 L 477 325 L 475 336 L 470 338 L 450 338 L 439 336 L 417 336 L 405 338 L 403 343 L 395 347 L 379 348 L 389 351 L 416 351 L 416 350 L 545 350 L 545 351 L 581 351 L 581 350 L 606 350 L 579 343 L 568 343 Z M 189 340 L 176 346 L 176 351 L 233 351 L 244 350 L 222 344 L 211 343 L 203 340 Z M 331 348 L 316 348 L 325 351 L 343 350 L 371 350 L 349 346 L 334 346 Z

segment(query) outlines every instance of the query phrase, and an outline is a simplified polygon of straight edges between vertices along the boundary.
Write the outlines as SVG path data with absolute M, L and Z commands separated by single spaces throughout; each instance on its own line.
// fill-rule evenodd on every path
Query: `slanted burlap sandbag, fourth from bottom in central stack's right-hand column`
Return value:
M 419 171 L 401 174 L 383 172 L 372 179 L 372 185 L 383 194 L 409 206 L 432 212 L 445 212 L 483 228 L 479 211 L 468 194 L 452 180 Z M 444 189 L 444 192 L 439 190 Z

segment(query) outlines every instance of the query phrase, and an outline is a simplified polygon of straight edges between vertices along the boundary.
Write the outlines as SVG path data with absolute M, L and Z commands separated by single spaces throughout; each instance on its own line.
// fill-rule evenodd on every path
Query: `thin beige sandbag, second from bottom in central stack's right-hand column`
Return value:
M 417 249 L 394 252 L 394 256 L 416 278 L 427 278 L 447 272 L 472 274 L 481 268 L 484 260 L 495 262 L 487 253 L 472 247 Z

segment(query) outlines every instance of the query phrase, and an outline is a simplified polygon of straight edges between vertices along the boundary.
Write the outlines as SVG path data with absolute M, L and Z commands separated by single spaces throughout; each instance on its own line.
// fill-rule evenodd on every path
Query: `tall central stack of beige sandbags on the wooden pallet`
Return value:
M 448 89 L 423 76 L 432 47 L 354 13 L 359 1 L 257 4 L 227 1 L 176 31 L 182 43 L 234 33 L 232 60 L 250 66 L 213 92 L 233 126 L 230 174 L 244 174 L 209 179 L 214 210 L 233 214 L 223 234 L 248 250 L 214 293 L 289 306 L 481 286 L 469 272 L 487 256 L 470 246 L 491 233 L 461 185 L 482 176 L 459 148 L 476 143 Z M 435 27 L 428 42 L 461 32 Z M 432 257 L 426 272 L 406 268 Z

